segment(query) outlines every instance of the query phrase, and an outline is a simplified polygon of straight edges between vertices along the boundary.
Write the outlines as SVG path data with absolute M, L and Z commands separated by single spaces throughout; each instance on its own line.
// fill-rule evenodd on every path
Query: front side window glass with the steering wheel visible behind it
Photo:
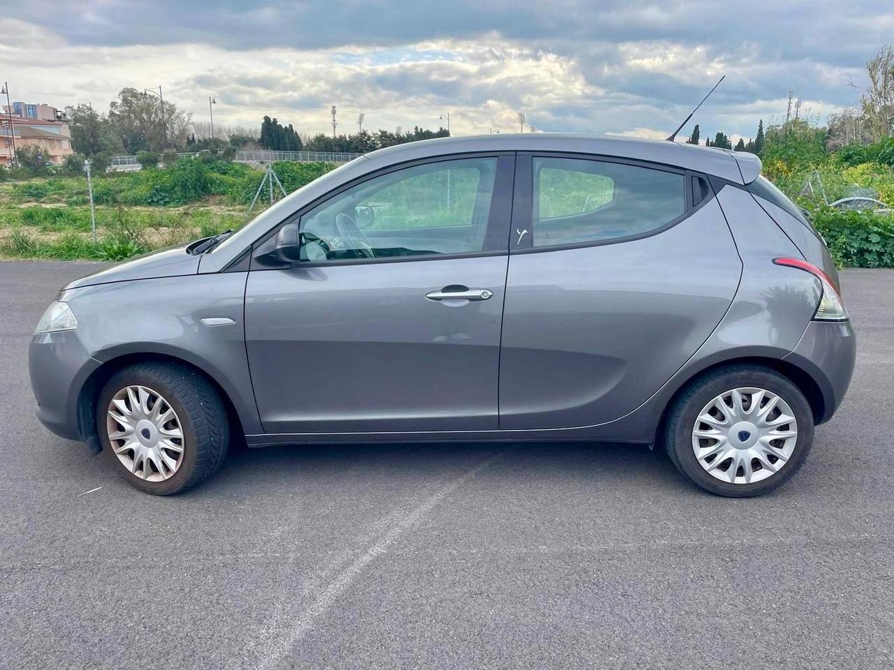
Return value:
M 480 252 L 496 169 L 494 157 L 425 163 L 348 188 L 301 217 L 301 260 Z

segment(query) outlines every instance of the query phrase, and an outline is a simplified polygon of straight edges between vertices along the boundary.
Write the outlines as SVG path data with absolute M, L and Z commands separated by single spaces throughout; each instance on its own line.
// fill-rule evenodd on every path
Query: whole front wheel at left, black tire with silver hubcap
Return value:
M 230 441 L 226 407 L 199 373 L 145 363 L 112 375 L 97 403 L 106 457 L 135 487 L 172 495 L 207 479 Z

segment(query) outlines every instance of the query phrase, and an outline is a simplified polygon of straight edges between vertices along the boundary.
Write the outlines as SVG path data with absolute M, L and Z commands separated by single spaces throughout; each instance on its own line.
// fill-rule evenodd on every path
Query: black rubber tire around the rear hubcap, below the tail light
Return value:
M 789 460 L 770 477 L 754 483 L 722 482 L 699 465 L 692 446 L 692 431 L 703 407 L 731 389 L 756 387 L 780 396 L 797 421 L 797 440 Z M 693 381 L 673 402 L 664 431 L 665 448 L 677 469 L 696 486 L 728 498 L 750 498 L 778 489 L 798 470 L 814 442 L 814 415 L 804 394 L 787 377 L 759 365 L 730 365 Z

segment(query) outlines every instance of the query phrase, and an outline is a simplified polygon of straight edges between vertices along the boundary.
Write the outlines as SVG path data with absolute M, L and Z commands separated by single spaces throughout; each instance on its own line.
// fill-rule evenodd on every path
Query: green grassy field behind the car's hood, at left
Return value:
M 328 163 L 276 163 L 291 192 L 333 169 Z M 122 260 L 156 248 L 237 230 L 264 171 L 240 163 L 186 160 L 164 170 L 93 179 L 93 241 L 86 177 L 0 183 L 0 255 Z M 260 201 L 263 208 L 265 200 Z M 259 210 L 255 211 L 257 214 Z

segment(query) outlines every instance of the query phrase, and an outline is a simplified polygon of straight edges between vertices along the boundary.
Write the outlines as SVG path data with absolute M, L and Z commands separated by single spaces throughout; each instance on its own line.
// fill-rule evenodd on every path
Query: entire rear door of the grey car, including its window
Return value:
M 662 165 L 519 155 L 512 231 L 502 429 L 633 411 L 707 339 L 741 274 L 707 181 Z

